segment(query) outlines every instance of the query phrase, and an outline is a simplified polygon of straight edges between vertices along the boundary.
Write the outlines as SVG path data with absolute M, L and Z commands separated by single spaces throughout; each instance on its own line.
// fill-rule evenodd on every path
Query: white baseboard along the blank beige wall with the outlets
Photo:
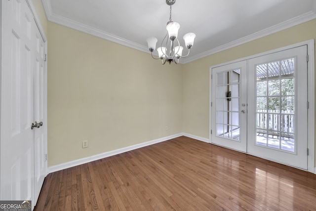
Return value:
M 156 144 L 156 143 L 159 143 L 159 142 L 167 141 L 167 140 L 170 140 L 172 138 L 180 137 L 182 135 L 185 135 L 185 134 L 184 133 L 179 133 L 179 134 L 175 134 L 175 135 L 170 135 L 170 136 L 167 136 L 167 137 L 158 138 L 156 140 L 147 141 L 147 142 L 144 142 L 144 143 L 141 143 L 141 144 L 135 144 L 135 145 L 132 145 L 132 146 L 121 148 L 121 149 L 117 149 L 117 150 L 101 153 L 101 154 L 98 154 L 98 155 L 93 155 L 93 156 L 90 156 L 90 157 L 81 158 L 81 159 L 78 159 L 78 160 L 75 160 L 75 161 L 70 161 L 70 162 L 67 162 L 67 163 L 59 164 L 59 165 L 56 165 L 56 166 L 49 167 L 48 168 L 48 173 L 52 173 L 52 172 L 55 172 L 55 171 L 58 171 L 58 170 L 63 170 L 63 169 L 68 169 L 68 168 L 71 168 L 71 167 L 79 166 L 81 164 L 86 164 L 86 163 L 89 163 L 89 162 L 92 162 L 92 161 L 96 161 L 96 160 L 100 160 L 102 158 L 107 158 L 107 157 L 110 157 L 110 156 L 113 156 L 113 155 L 118 155 L 118 154 L 123 153 L 123 152 L 128 152 L 128 151 L 131 151 L 131 150 L 134 150 L 134 149 L 138 149 L 138 148 L 141 148 L 141 147 L 145 147 L 145 146 L 149 146 L 149 145 Z M 190 137 L 190 136 L 188 136 L 188 137 Z

